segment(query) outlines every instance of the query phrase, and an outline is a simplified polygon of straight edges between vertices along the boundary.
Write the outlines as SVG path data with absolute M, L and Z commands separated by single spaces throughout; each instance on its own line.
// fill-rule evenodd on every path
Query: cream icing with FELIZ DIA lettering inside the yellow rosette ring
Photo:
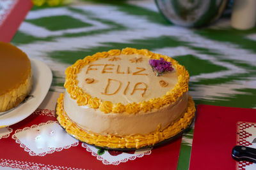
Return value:
M 81 68 L 77 85 L 90 96 L 112 103 L 139 103 L 162 97 L 175 87 L 177 71 L 156 76 L 149 60 L 140 54 L 100 58 Z

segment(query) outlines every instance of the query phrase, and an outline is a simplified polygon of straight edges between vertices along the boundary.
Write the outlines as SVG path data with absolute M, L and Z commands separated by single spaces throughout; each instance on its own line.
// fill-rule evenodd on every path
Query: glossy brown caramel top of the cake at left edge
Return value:
M 19 87 L 31 71 L 26 53 L 9 43 L 0 42 L 0 95 Z

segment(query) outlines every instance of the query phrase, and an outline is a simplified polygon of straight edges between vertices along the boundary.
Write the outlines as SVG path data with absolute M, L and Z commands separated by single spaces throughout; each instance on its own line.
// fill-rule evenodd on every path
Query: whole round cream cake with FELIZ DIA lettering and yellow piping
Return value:
M 156 62 L 169 66 L 163 72 Z M 195 116 L 189 73 L 166 55 L 109 50 L 77 60 L 65 74 L 57 120 L 68 134 L 90 145 L 154 146 L 186 129 Z

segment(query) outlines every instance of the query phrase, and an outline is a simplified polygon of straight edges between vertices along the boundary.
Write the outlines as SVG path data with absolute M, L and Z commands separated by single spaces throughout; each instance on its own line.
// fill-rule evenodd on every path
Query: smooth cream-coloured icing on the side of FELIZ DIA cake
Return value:
M 140 111 L 135 115 L 125 112 L 105 114 L 99 109 L 77 106 L 76 100 L 71 99 L 67 90 L 64 96 L 64 110 L 68 117 L 82 129 L 102 135 L 127 136 L 154 132 L 159 124 L 163 128 L 180 118 L 187 104 L 188 92 L 175 103 L 147 113 Z

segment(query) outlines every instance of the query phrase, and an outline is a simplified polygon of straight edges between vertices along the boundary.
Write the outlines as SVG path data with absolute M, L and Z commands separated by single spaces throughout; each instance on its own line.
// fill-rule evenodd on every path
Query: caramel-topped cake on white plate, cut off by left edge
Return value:
M 0 112 L 18 106 L 32 88 L 30 60 L 26 53 L 0 42 Z

